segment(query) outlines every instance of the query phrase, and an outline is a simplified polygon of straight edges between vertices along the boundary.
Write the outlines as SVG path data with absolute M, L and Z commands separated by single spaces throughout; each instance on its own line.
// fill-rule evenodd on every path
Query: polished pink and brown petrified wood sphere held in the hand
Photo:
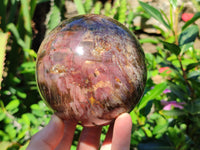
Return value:
M 36 76 L 43 99 L 59 117 L 83 126 L 105 125 L 141 98 L 145 57 L 119 22 L 81 15 L 63 21 L 44 39 Z

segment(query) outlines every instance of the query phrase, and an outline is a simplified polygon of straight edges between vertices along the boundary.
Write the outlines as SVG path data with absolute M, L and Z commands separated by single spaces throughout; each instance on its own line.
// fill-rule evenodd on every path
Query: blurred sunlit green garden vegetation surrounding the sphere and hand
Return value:
M 0 149 L 26 149 L 50 120 L 35 81 L 37 50 L 65 18 L 103 14 L 126 25 L 142 44 L 148 68 L 145 93 L 131 112 L 131 149 L 200 149 L 200 1 L 1 0 Z M 131 7 L 135 3 L 137 6 Z M 158 5 L 159 6 L 159 5 Z M 139 20 L 139 21 L 138 21 Z M 82 130 L 77 126 L 71 149 Z M 108 127 L 102 130 L 101 141 Z

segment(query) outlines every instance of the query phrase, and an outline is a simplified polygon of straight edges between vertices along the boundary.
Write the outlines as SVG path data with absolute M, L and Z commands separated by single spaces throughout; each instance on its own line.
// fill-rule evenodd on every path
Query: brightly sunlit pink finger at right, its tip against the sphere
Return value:
M 128 113 L 120 115 L 114 124 L 112 150 L 129 150 L 132 120 Z

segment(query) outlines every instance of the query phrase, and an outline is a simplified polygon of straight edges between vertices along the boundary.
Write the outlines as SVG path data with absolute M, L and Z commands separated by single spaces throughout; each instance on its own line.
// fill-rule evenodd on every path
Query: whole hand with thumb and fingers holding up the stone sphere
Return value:
M 49 124 L 36 133 L 27 150 L 70 150 L 76 124 L 63 122 L 53 115 Z M 84 127 L 78 150 L 98 150 L 102 127 Z M 110 125 L 100 150 L 129 150 L 132 120 L 128 113 L 121 114 Z

